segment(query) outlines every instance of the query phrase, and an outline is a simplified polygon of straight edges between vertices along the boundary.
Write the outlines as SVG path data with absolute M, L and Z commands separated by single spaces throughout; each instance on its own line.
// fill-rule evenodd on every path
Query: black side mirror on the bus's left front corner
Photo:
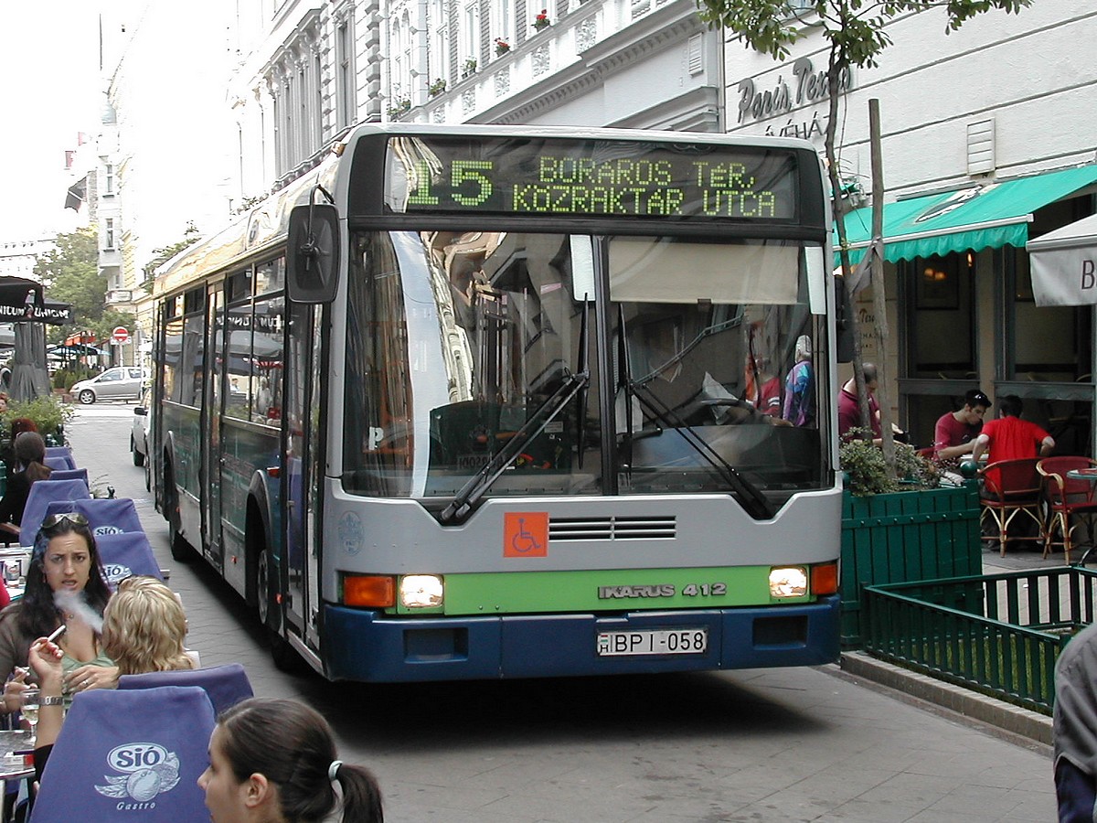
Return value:
M 330 303 L 339 285 L 339 212 L 327 203 L 290 212 L 286 290 L 295 303 Z

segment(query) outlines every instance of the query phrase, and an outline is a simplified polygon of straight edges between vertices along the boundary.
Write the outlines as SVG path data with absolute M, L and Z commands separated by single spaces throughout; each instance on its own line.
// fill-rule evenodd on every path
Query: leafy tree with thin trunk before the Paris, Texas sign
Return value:
M 807 3 L 792 0 L 698 0 L 700 16 L 710 26 L 722 25 L 735 40 L 773 59 L 787 58 L 791 45 L 815 33 L 821 34 L 828 44 L 826 78 L 829 116 L 824 133 L 824 151 L 833 193 L 838 253 L 845 275 L 842 280 L 847 286 L 852 282 L 849 277 L 849 246 L 844 219 L 848 205 L 842 198 L 835 150 L 842 77 L 855 66 L 877 66 L 880 55 L 892 45 L 886 26 L 900 14 L 945 9 L 945 33 L 948 34 L 977 14 L 994 9 L 1018 13 L 1031 4 L 1032 0 L 810 0 Z M 886 320 L 878 317 L 877 323 L 884 324 Z M 884 331 L 885 326 L 881 325 L 878 334 L 883 335 Z M 862 424 L 869 428 L 868 393 L 861 373 L 859 342 L 855 343 L 853 376 L 861 401 Z M 889 454 L 894 477 L 894 447 L 891 442 L 889 409 L 882 407 L 881 412 L 885 453 Z

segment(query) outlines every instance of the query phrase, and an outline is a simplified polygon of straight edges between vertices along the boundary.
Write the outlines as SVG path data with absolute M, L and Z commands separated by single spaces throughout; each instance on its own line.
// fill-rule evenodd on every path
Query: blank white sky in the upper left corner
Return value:
M 0 243 L 53 237 L 78 225 L 76 213 L 64 208 L 73 182 L 65 150 L 77 147 L 78 132 L 98 132 L 98 12 L 91 0 L 0 5 Z

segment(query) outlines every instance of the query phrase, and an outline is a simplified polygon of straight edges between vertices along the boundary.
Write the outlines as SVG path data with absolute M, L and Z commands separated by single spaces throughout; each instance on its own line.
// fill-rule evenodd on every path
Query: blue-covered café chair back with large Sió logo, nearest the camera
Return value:
M 194 686 L 80 692 L 42 775 L 32 823 L 210 820 L 199 776 L 215 717 Z

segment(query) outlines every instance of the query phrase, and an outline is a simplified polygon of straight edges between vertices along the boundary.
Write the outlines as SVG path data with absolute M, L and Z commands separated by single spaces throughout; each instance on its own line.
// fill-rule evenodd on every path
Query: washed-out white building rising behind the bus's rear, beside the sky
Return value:
M 122 352 L 127 363 L 150 340 L 146 267 L 192 224 L 213 232 L 239 205 L 225 106 L 234 31 L 231 9 L 218 0 L 120 0 L 102 14 L 95 221 L 106 305 L 137 319 Z

